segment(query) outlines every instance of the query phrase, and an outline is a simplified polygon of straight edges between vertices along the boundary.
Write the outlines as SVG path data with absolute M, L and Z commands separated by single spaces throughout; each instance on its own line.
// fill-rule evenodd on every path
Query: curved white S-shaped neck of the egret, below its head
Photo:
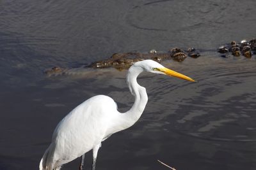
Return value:
M 127 84 L 131 94 L 135 97 L 135 101 L 132 108 L 129 111 L 122 113 L 120 116 L 122 130 L 131 127 L 135 122 L 137 122 L 148 101 L 146 89 L 137 83 L 137 77 L 141 72 L 143 72 L 141 67 L 131 66 L 127 73 Z

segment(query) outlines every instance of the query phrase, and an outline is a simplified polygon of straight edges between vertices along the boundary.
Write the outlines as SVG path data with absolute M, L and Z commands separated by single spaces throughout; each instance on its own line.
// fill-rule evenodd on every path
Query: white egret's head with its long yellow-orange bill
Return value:
M 176 71 L 173 71 L 171 69 L 168 69 L 158 62 L 154 60 L 142 60 L 140 62 L 136 62 L 134 66 L 140 66 L 143 68 L 144 71 L 148 71 L 150 73 L 156 73 L 156 74 L 166 74 L 168 76 L 175 76 L 177 78 L 182 78 L 184 80 L 188 81 L 195 81 L 192 78 L 189 78 L 188 76 L 185 76 L 184 74 L 177 73 Z

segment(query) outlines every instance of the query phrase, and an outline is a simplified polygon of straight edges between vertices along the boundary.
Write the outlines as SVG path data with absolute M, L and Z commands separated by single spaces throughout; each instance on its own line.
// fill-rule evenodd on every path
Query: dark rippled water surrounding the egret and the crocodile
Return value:
M 221 58 L 232 40 L 255 38 L 256 1 L 0 1 L 0 169 L 38 169 L 56 124 L 97 94 L 127 110 L 125 71 L 47 77 L 115 52 L 201 49 L 164 66 L 190 83 L 145 73 L 148 104 L 130 129 L 99 150 L 97 169 L 256 169 L 255 55 Z M 86 155 L 90 167 L 92 153 Z M 63 166 L 77 169 L 79 160 Z

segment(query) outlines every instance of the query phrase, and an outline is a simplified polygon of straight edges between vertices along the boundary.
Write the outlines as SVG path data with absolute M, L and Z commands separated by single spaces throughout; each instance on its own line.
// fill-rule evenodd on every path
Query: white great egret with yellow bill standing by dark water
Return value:
M 58 170 L 61 165 L 90 150 L 93 150 L 94 170 L 101 142 L 111 134 L 131 127 L 141 117 L 148 96 L 146 89 L 137 83 L 136 78 L 143 71 L 195 81 L 153 60 L 136 62 L 127 73 L 127 84 L 135 97 L 132 108 L 120 113 L 115 101 L 103 95 L 94 96 L 81 103 L 57 125 L 52 135 L 52 143 L 40 161 L 40 170 Z

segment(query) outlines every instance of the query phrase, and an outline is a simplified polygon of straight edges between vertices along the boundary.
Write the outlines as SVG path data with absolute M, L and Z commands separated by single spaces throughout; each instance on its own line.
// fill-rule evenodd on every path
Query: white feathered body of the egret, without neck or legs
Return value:
M 108 136 L 109 120 L 116 103 L 108 96 L 94 96 L 70 111 L 57 125 L 42 166 L 61 166 L 88 152 Z

